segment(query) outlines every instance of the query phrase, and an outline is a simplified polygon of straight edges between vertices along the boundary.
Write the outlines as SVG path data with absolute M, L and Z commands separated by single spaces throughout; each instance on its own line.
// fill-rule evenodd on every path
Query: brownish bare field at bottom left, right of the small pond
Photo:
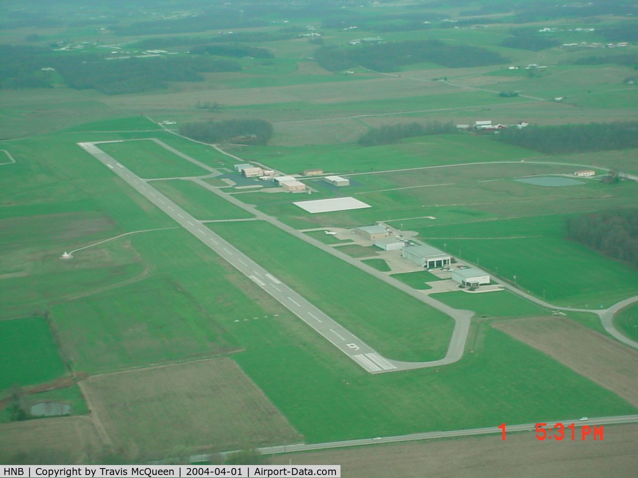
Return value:
M 302 441 L 227 358 L 100 375 L 82 386 L 109 436 L 131 458 L 166 456 L 184 446 L 228 451 Z

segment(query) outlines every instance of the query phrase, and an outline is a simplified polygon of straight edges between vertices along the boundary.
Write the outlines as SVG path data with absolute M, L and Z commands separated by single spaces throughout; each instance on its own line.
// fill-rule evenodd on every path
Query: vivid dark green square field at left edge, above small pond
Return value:
M 0 321 L 0 389 L 40 384 L 64 373 L 64 363 L 43 317 Z

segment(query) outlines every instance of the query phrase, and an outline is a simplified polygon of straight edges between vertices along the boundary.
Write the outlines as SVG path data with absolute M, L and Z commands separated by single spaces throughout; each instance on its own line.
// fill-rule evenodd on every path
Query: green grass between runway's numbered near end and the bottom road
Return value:
M 308 442 L 636 413 L 489 326 L 480 326 L 473 351 L 454 365 L 374 376 L 295 345 L 234 357 Z

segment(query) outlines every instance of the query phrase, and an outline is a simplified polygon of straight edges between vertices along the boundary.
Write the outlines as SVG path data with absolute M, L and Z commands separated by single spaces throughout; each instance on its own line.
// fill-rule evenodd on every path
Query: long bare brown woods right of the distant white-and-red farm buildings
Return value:
M 493 138 L 547 154 L 638 148 L 638 121 L 509 128 Z

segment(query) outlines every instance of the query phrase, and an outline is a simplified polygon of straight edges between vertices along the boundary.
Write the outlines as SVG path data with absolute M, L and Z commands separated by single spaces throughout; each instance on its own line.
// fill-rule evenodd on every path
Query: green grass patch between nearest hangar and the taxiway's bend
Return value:
M 456 291 L 432 294 L 431 297 L 450 307 L 473 310 L 480 317 L 526 317 L 550 314 L 546 308 L 510 291 L 478 294 Z

